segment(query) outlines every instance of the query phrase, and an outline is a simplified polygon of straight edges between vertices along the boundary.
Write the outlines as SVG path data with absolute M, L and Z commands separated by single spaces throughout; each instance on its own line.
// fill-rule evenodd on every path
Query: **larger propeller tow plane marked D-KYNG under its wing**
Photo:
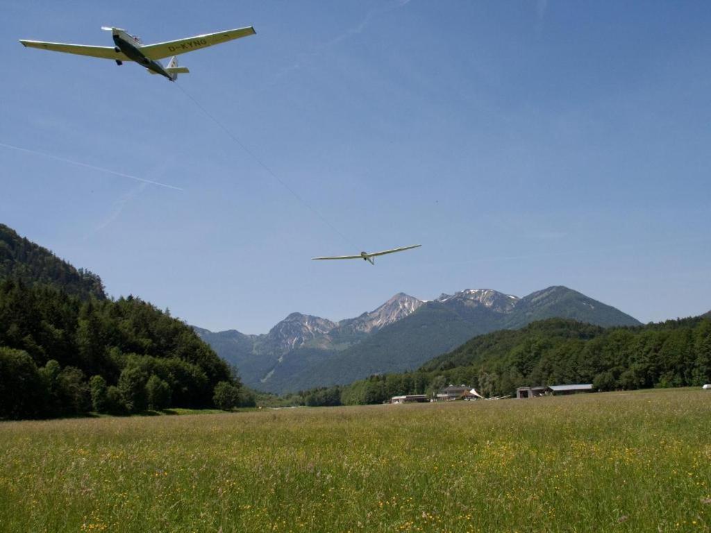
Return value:
M 177 41 L 166 41 L 144 45 L 136 36 L 132 36 L 121 28 L 107 28 L 102 26 L 102 30 L 110 31 L 114 38 L 114 46 L 88 46 L 68 43 L 47 43 L 45 41 L 26 41 L 20 39 L 24 46 L 30 48 L 41 48 L 42 50 L 52 50 L 54 52 L 64 52 L 77 55 L 89 55 L 92 58 L 112 59 L 117 65 L 123 65 L 124 61 L 135 61 L 143 65 L 150 74 L 160 74 L 167 77 L 171 82 L 176 80 L 178 74 L 190 72 L 186 67 L 178 67 L 176 55 L 200 50 L 208 46 L 226 43 L 240 37 L 254 35 L 255 28 L 237 28 L 234 30 L 218 31 L 216 33 L 205 33 L 194 37 L 178 39 Z M 172 56 L 172 57 L 171 57 Z M 168 58 L 168 65 L 164 66 L 159 59 Z

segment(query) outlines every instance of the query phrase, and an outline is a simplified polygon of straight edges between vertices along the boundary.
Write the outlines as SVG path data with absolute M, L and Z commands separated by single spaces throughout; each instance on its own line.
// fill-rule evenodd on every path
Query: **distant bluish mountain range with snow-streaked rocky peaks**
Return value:
M 245 384 L 282 393 L 414 370 L 476 335 L 553 317 L 602 326 L 640 324 L 584 294 L 552 286 L 523 298 L 491 289 L 442 294 L 434 301 L 399 293 L 374 311 L 338 322 L 292 313 L 262 335 L 193 329 L 237 367 Z

